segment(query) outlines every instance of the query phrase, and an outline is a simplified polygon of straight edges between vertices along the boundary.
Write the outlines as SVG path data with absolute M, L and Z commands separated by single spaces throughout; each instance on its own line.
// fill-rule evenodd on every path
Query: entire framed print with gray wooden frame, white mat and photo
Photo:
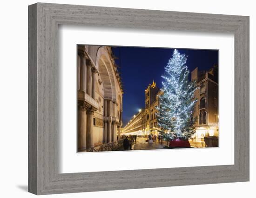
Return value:
M 28 19 L 29 192 L 249 181 L 249 17 L 37 3 Z

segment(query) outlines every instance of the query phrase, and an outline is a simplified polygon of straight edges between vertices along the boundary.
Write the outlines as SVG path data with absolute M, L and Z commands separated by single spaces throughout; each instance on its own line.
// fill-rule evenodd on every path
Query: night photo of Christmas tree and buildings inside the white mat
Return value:
M 77 45 L 77 152 L 218 147 L 218 63 L 217 49 Z

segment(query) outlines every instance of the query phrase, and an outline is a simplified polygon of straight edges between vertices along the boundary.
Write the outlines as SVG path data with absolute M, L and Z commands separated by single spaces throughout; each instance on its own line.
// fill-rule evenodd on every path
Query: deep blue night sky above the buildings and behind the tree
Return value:
M 172 57 L 173 48 L 145 47 L 112 47 L 118 59 L 123 83 L 123 126 L 145 108 L 145 89 L 153 80 L 158 88 L 162 87 L 162 74 L 168 60 Z M 177 49 L 188 55 L 187 66 L 190 72 L 198 67 L 199 70 L 209 70 L 218 64 L 216 50 Z

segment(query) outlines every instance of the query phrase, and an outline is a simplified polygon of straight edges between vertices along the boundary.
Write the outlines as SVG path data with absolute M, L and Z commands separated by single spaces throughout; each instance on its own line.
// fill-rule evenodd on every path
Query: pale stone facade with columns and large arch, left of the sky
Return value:
M 83 152 L 120 139 L 122 85 L 108 46 L 77 47 L 77 141 Z

